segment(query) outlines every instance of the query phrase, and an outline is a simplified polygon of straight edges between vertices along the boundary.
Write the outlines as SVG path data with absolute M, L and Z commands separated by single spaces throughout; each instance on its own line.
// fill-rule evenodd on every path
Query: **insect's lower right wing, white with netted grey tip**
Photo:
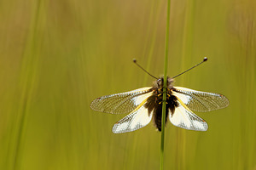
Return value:
M 207 131 L 208 129 L 207 122 L 189 111 L 182 101 L 178 101 L 178 106 L 173 113 L 170 111 L 169 120 L 174 126 L 189 130 Z

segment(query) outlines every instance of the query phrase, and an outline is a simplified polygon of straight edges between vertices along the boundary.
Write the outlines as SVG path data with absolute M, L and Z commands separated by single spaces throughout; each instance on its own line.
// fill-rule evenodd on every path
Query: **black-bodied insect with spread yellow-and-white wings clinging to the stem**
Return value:
M 184 71 L 185 72 L 185 71 Z M 163 82 L 161 77 L 153 87 L 139 88 L 121 94 L 102 96 L 93 100 L 90 108 L 111 114 L 130 113 L 113 125 L 113 133 L 127 133 L 148 125 L 152 118 L 154 125 L 161 131 Z M 207 131 L 207 122 L 196 116 L 193 111 L 213 111 L 229 105 L 222 94 L 213 94 L 173 87 L 173 79 L 167 78 L 166 120 L 174 126 L 189 130 Z

